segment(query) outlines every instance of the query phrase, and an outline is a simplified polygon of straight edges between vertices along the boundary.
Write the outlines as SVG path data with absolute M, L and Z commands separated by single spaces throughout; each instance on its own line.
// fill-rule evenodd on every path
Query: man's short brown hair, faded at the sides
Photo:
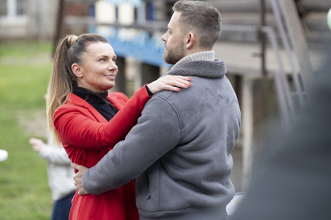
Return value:
M 196 31 L 202 48 L 212 48 L 220 37 L 221 14 L 211 3 L 200 0 L 179 0 L 172 7 L 173 12 L 181 12 L 179 25 L 182 34 Z

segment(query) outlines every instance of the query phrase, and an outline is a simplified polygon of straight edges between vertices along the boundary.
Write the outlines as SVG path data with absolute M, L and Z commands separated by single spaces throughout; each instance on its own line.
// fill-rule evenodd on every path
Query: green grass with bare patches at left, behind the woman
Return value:
M 51 44 L 0 44 L 0 219 L 48 220 L 52 200 L 46 161 L 32 151 L 32 136 L 45 138 L 43 95 L 51 71 Z M 41 120 L 42 118 L 42 120 Z

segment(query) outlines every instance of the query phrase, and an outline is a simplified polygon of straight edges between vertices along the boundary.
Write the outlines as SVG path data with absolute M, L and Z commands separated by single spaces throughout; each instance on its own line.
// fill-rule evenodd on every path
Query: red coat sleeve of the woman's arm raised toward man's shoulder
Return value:
M 108 123 L 96 122 L 75 106 L 60 107 L 54 113 L 54 126 L 65 144 L 81 148 L 111 148 L 124 140 L 130 129 L 137 124 L 149 99 L 145 86 L 141 87 Z

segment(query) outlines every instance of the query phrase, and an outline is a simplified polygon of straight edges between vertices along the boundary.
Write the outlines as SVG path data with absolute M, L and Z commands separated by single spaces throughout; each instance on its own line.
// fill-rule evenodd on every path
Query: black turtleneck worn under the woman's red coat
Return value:
M 95 93 L 83 87 L 73 86 L 72 93 L 84 99 L 88 104 L 95 108 L 107 121 L 110 121 L 118 110 L 109 103 L 107 99 L 108 91 Z

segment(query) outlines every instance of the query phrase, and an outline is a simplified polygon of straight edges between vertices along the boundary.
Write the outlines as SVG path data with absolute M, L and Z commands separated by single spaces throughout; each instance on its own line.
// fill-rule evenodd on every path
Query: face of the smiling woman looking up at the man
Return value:
M 77 85 L 94 92 L 105 92 L 115 85 L 118 67 L 115 64 L 116 54 L 109 43 L 91 43 L 86 47 L 82 63 L 75 63 L 71 68 L 77 76 Z

